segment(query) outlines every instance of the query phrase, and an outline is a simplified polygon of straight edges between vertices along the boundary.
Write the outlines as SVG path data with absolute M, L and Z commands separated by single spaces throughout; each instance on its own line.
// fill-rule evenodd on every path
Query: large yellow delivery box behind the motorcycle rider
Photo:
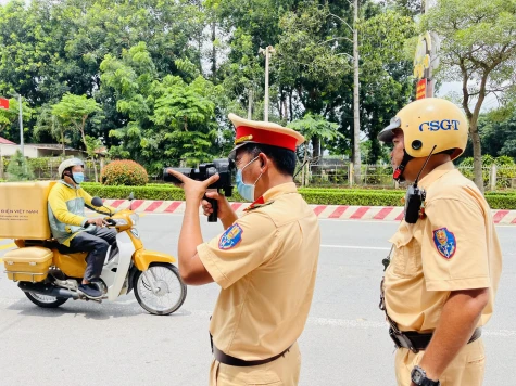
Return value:
M 55 181 L 0 183 L 0 237 L 51 237 L 47 198 Z

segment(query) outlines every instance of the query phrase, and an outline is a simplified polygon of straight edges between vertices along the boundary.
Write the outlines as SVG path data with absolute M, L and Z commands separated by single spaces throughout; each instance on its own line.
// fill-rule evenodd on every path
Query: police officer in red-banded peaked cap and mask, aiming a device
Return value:
M 190 285 L 221 286 L 210 324 L 214 360 L 210 385 L 298 385 L 297 339 L 307 319 L 320 245 L 316 216 L 293 182 L 295 146 L 304 138 L 272 123 L 229 115 L 236 133 L 230 156 L 237 189 L 253 202 L 238 218 L 215 192 L 224 233 L 204 243 L 199 203 L 218 176 L 184 183 L 179 272 Z M 204 214 L 213 211 L 202 202 Z

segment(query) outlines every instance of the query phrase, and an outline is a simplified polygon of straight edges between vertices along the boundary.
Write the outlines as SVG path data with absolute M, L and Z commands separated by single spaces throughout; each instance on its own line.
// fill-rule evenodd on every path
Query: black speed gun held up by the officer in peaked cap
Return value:
M 230 197 L 232 194 L 232 173 L 235 171 L 235 163 L 230 158 L 221 158 L 213 159 L 209 164 L 201 164 L 198 168 L 174 168 L 166 167 L 163 170 L 163 180 L 165 182 L 172 182 L 174 184 L 180 184 L 177 178 L 168 172 L 168 170 L 175 170 L 185 175 L 188 178 L 191 178 L 196 181 L 205 181 L 210 177 L 218 173 L 219 178 L 215 183 L 212 183 L 207 189 L 216 189 L 218 193 L 224 191 L 226 197 Z M 207 222 L 217 222 L 217 201 L 213 198 L 207 198 L 204 196 L 204 200 L 207 200 L 212 204 L 213 213 L 207 217 Z

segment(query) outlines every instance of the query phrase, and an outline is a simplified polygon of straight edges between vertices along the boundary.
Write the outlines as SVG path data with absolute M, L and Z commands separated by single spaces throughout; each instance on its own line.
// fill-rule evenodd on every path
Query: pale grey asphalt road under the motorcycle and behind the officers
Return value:
M 180 221 L 177 215 L 143 216 L 146 247 L 175 255 Z M 203 222 L 205 240 L 219 227 Z M 380 260 L 397 223 L 322 220 L 320 227 L 317 285 L 299 340 L 300 385 L 395 385 L 378 296 Z M 505 260 L 483 335 L 484 385 L 509 386 L 516 384 L 516 227 L 498 231 Z M 0 241 L 0 256 L 10 243 Z M 150 316 L 133 294 L 101 305 L 68 300 L 48 310 L 0 273 L 0 385 L 207 385 L 207 324 L 217 293 L 216 284 L 188 287 L 184 306 L 169 317 Z

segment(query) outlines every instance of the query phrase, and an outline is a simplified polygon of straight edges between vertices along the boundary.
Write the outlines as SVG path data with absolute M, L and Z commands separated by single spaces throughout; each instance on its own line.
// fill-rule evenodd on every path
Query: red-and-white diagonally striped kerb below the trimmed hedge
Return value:
M 127 200 L 104 200 L 104 203 L 119 209 L 129 208 Z M 130 205 L 137 213 L 185 213 L 184 201 L 134 200 Z M 231 203 L 237 214 L 242 213 L 249 205 L 249 203 Z M 401 206 L 311 205 L 311 207 L 320 219 L 399 221 L 403 218 Z M 495 223 L 516 224 L 516 210 L 494 209 L 492 215 Z

